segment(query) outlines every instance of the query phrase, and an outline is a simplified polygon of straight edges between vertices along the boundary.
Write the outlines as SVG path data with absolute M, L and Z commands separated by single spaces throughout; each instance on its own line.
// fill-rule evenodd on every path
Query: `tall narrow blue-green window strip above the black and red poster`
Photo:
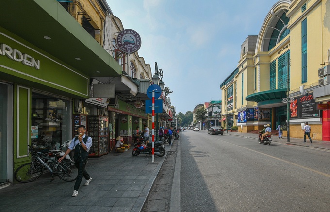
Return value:
M 307 19 L 301 22 L 301 83 L 307 82 Z

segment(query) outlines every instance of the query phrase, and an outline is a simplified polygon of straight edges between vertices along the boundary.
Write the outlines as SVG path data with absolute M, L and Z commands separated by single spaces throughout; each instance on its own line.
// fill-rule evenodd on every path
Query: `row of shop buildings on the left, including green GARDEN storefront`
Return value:
M 90 156 L 151 126 L 150 65 L 116 49 L 124 28 L 106 1 L 3 0 L 0 13 L 0 186 L 30 160 L 28 145 L 58 148 L 80 124 L 93 137 Z M 166 109 L 164 98 L 164 121 Z

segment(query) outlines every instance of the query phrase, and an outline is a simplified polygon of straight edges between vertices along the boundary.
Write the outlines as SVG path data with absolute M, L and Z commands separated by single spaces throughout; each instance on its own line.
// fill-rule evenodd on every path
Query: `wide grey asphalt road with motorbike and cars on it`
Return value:
M 330 211 L 330 153 L 181 133 L 181 212 Z

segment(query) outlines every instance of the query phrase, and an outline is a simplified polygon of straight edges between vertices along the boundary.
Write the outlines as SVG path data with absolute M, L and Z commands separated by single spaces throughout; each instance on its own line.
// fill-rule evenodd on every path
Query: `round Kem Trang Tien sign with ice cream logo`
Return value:
M 134 30 L 122 30 L 116 40 L 118 48 L 126 53 L 131 54 L 136 52 L 141 47 L 141 38 L 139 33 Z

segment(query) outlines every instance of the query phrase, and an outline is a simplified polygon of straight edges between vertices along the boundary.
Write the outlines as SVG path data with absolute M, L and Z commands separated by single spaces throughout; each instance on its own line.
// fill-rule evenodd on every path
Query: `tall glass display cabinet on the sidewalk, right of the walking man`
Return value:
M 93 144 L 89 150 L 89 156 L 99 157 L 108 154 L 109 125 L 108 117 L 89 115 L 88 116 L 88 136 L 92 137 Z

